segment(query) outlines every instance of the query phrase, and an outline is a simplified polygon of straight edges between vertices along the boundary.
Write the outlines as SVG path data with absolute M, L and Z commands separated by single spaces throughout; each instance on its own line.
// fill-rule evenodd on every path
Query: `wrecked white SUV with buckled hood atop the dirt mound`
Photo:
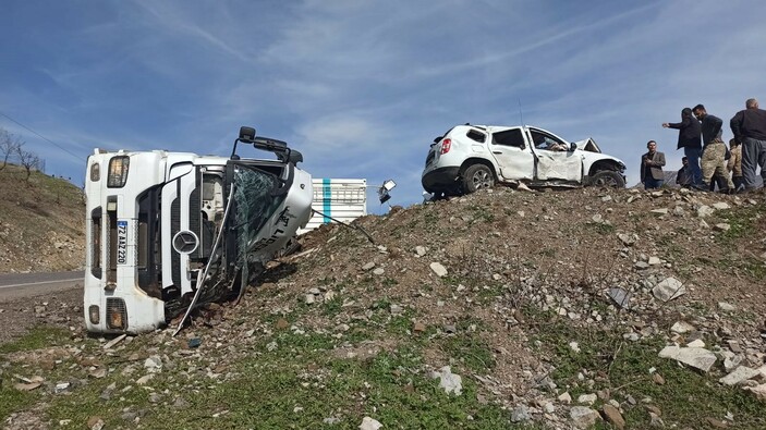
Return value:
M 567 143 L 533 126 L 458 125 L 434 139 L 421 182 L 435 195 L 462 195 L 496 183 L 625 186 L 625 164 L 593 139 Z

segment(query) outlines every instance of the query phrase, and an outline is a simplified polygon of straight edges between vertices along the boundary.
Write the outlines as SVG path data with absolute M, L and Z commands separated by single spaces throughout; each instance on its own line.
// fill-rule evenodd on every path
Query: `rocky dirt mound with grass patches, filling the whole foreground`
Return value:
M 354 225 L 374 243 L 309 233 L 242 303 L 210 306 L 177 337 L 88 337 L 76 299 L 3 304 L 47 325 L 0 345 L 0 416 L 766 428 L 763 193 L 496 188 Z

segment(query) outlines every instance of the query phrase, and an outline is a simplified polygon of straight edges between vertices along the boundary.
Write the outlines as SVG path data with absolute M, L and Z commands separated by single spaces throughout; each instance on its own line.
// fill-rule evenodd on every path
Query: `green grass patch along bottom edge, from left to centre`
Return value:
M 133 427 L 132 417 L 123 417 L 129 410 L 141 416 L 146 429 L 355 429 L 364 416 L 387 428 L 522 428 L 512 426 L 508 411 L 496 404 L 479 403 L 471 378 L 463 377 L 460 396 L 446 394 L 439 380 L 425 371 L 420 346 L 350 359 L 317 348 L 327 346 L 326 341 L 315 334 L 281 335 L 278 348 L 269 352 L 258 345 L 258 354 L 232 364 L 232 377 L 224 381 L 206 377 L 204 369 L 182 374 L 195 365 L 193 360 L 177 361 L 175 369 L 163 369 L 143 386 L 134 382 L 141 370 L 133 376 L 114 371 L 70 395 L 48 397 L 48 418 L 71 419 L 82 427 L 99 416 L 109 428 Z M 117 388 L 111 397 L 99 398 L 112 383 Z M 123 391 L 126 386 L 132 389 Z M 161 403 L 149 403 L 151 393 Z M 187 405 L 174 406 L 177 397 Z M 15 408 L 17 403 L 0 407 L 5 405 Z M 336 422 L 325 422 L 326 418 Z

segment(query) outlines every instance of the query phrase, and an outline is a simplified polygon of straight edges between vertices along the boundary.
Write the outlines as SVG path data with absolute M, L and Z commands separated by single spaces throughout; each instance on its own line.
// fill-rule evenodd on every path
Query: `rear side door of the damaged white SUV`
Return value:
M 520 127 L 493 132 L 489 149 L 500 167 L 502 180 L 532 180 L 535 159 Z

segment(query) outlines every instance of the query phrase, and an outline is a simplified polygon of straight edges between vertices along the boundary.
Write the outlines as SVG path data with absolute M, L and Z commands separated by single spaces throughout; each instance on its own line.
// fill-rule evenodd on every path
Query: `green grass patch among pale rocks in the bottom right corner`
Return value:
M 538 341 L 538 348 L 555 357 L 551 364 L 556 370 L 550 378 L 574 398 L 608 389 L 611 398 L 623 405 L 628 428 L 651 427 L 646 408 L 642 403 L 631 406 L 625 402 L 629 395 L 635 400 L 649 398 L 651 404 L 662 411 L 661 418 L 668 427 L 698 428 L 706 423 L 707 417 L 721 419 L 731 413 L 737 428 L 766 428 L 763 405 L 755 396 L 741 388 L 719 384 L 717 379 L 722 374 L 717 369 L 703 374 L 680 367 L 674 360 L 659 358 L 658 353 L 665 346 L 661 339 L 629 342 L 623 341 L 617 330 L 577 329 L 567 322 L 551 321 L 540 312 L 530 312 L 527 318 L 545 324 L 531 340 L 533 344 Z M 580 352 L 569 346 L 573 341 L 577 342 Z M 653 380 L 649 368 L 655 368 L 665 379 L 664 384 Z M 587 373 L 585 381 L 577 378 L 583 371 Z M 589 386 L 587 380 L 595 384 Z

